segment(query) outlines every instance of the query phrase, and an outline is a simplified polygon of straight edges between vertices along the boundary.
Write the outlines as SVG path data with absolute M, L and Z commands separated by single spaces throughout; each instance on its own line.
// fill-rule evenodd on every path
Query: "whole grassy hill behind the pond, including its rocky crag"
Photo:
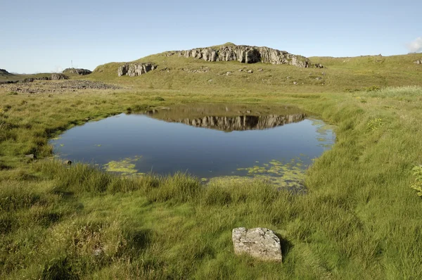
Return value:
M 248 61 L 247 56 L 239 58 L 236 48 L 269 51 L 264 52 L 265 56 L 260 51 L 260 60 L 250 55 L 249 58 L 255 63 L 241 63 Z M 212 50 L 215 49 L 219 51 L 213 54 Z M 229 58 L 222 56 L 220 52 L 223 50 L 227 54 L 227 49 L 234 50 L 229 52 Z M 271 58 L 266 56 L 268 53 L 279 55 Z M 295 61 L 302 61 L 299 63 L 302 67 L 292 65 L 293 58 Z M 239 88 L 260 90 L 264 87 L 275 92 L 343 92 L 370 87 L 422 85 L 421 64 L 414 63 L 419 58 L 420 54 L 417 53 L 400 56 L 305 58 L 267 47 L 224 44 L 188 51 L 166 51 L 129 63 L 107 63 L 99 65 L 87 77 L 127 84 L 139 89 L 197 88 L 227 91 Z M 320 68 L 322 65 L 324 68 Z M 134 77 L 129 77 L 130 75 Z

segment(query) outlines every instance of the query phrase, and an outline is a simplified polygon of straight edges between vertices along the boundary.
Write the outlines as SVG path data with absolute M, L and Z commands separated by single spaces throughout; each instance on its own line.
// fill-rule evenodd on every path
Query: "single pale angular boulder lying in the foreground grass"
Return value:
M 238 227 L 233 229 L 231 238 L 236 255 L 248 254 L 261 260 L 278 262 L 282 260 L 280 239 L 271 229 Z

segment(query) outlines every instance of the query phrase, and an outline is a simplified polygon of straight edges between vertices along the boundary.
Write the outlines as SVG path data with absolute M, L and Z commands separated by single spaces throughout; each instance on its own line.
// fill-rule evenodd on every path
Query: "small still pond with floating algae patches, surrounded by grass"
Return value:
M 87 122 L 50 143 L 62 159 L 110 172 L 298 182 L 334 140 L 332 127 L 296 108 L 196 104 Z

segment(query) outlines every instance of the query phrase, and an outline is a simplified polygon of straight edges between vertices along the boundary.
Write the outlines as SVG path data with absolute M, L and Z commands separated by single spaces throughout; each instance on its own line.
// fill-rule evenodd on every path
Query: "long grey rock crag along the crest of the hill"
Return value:
M 279 51 L 266 46 L 236 46 L 224 45 L 219 47 L 208 47 L 191 49 L 188 51 L 171 51 L 166 56 L 184 56 L 186 58 L 198 58 L 204 61 L 239 61 L 241 63 L 271 63 L 288 64 L 301 68 L 312 66 L 322 68 L 321 64 L 312 65 L 308 58 L 296 56 L 287 51 Z

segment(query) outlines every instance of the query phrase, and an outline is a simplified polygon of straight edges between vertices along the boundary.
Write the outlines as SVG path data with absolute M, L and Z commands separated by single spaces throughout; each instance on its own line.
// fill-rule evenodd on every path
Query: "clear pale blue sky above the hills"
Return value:
M 421 0 L 0 0 L 0 68 L 94 70 L 226 42 L 308 57 L 391 56 L 422 51 L 421 11 Z

